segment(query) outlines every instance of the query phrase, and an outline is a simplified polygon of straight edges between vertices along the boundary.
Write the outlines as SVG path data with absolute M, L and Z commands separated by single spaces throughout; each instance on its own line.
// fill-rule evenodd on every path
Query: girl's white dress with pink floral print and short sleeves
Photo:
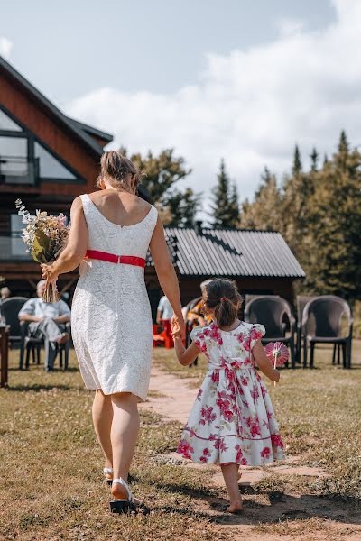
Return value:
M 208 372 L 178 446 L 184 458 L 251 466 L 284 458 L 271 399 L 252 355 L 264 333 L 264 326 L 245 322 L 233 331 L 215 323 L 191 331 L 208 358 Z

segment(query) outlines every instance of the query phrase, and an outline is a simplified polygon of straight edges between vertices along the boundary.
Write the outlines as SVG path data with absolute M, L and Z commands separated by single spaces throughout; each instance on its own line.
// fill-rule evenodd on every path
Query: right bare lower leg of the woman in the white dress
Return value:
M 113 405 L 113 423 L 110 432 L 113 449 L 114 479 L 128 478 L 133 459 L 136 440 L 139 433 L 138 399 L 130 392 L 111 395 Z M 115 498 L 126 498 L 125 488 L 116 484 L 112 487 Z

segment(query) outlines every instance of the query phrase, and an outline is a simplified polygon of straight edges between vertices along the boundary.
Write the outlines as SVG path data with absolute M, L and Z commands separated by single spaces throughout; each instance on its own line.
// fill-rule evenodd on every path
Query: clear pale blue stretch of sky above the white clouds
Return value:
M 1 12 L 15 68 L 58 104 L 103 85 L 174 92 L 208 52 L 273 41 L 284 19 L 318 29 L 335 18 L 329 0 L 7 0 Z

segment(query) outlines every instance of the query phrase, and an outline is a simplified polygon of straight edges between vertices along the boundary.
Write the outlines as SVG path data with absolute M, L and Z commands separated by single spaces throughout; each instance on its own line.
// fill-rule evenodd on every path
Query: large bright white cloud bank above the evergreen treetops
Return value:
M 265 164 L 290 169 L 295 142 L 304 160 L 313 145 L 332 152 L 343 128 L 361 144 L 361 2 L 333 4 L 337 20 L 324 30 L 283 21 L 271 43 L 209 53 L 193 86 L 168 95 L 103 87 L 67 113 L 129 151 L 174 147 L 193 168 L 188 184 L 205 195 L 223 157 L 241 197 L 252 196 Z

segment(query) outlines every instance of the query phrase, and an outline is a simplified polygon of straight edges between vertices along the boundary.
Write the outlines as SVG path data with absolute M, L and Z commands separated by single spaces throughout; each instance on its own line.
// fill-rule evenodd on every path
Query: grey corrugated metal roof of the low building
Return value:
M 180 275 L 305 277 L 280 233 L 165 227 L 165 234 Z

